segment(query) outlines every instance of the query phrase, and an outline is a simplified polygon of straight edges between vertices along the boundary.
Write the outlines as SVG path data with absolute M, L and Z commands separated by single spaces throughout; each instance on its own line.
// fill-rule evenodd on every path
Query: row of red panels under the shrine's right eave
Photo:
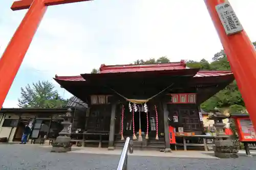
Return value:
M 172 96 L 172 104 L 195 104 L 196 93 L 173 93 L 169 94 Z

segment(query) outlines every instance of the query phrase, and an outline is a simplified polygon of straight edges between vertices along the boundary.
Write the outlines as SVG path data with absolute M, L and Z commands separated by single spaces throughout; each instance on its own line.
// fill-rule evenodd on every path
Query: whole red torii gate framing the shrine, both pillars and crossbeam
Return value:
M 0 60 L 0 108 L 48 6 L 91 0 L 21 0 L 12 10 L 28 9 Z M 224 47 L 256 131 L 256 53 L 227 0 L 204 0 Z M 227 13 L 228 11 L 228 13 Z M 228 23 L 228 24 L 227 24 Z

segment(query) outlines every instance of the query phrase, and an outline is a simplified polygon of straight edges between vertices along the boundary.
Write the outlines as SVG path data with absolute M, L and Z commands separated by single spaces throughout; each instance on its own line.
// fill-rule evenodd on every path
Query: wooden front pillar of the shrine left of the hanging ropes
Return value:
M 112 104 L 111 108 L 110 137 L 108 150 L 114 150 L 116 105 L 116 103 Z

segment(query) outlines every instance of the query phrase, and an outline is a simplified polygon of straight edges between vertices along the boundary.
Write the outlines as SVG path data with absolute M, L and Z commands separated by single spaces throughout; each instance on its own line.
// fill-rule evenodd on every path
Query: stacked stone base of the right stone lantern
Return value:
M 230 139 L 215 141 L 214 154 L 218 158 L 238 158 L 238 150 Z

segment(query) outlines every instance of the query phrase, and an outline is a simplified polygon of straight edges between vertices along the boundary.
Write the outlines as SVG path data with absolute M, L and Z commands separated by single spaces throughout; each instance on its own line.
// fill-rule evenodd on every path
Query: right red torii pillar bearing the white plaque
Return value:
M 256 131 L 256 52 L 246 32 L 227 35 L 216 6 L 225 0 L 204 0 L 236 78 L 246 109 Z

